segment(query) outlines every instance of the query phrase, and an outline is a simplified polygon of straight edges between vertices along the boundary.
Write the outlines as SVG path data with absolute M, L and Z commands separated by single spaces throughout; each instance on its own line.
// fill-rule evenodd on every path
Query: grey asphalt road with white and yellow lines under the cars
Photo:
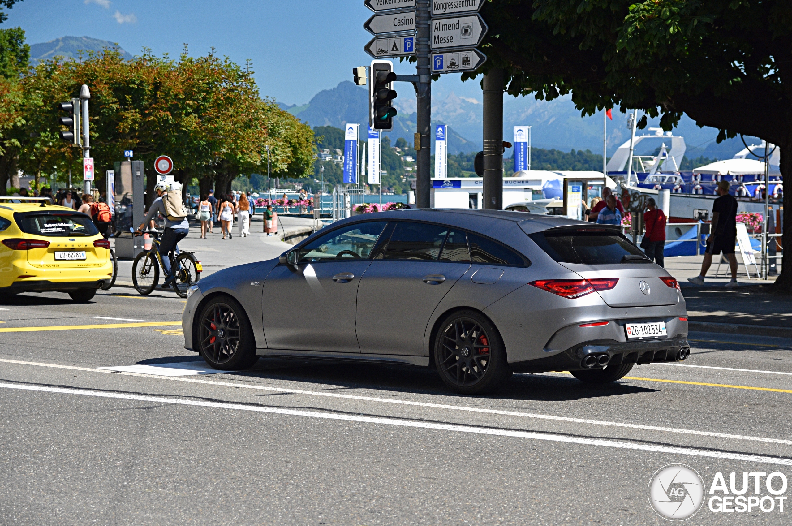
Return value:
M 0 301 L 0 524 L 664 524 L 647 486 L 672 463 L 707 493 L 686 524 L 792 522 L 783 501 L 707 503 L 718 472 L 738 491 L 743 472 L 792 477 L 790 340 L 691 334 L 683 364 L 619 383 L 514 375 L 466 397 L 406 367 L 178 375 L 203 364 L 182 301 Z

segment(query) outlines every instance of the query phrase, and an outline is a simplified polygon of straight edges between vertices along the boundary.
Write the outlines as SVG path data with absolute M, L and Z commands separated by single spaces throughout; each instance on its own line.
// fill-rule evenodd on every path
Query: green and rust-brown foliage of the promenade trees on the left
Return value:
M 53 166 L 63 173 L 78 162 L 79 149 L 58 138 L 55 103 L 76 97 L 82 84 L 91 91 L 97 174 L 123 158 L 124 150 L 133 150 L 147 166 L 149 196 L 160 154 L 173 158 L 177 181 L 199 179 L 203 192 L 212 181 L 218 192 L 228 192 L 239 175 L 266 170 L 268 151 L 273 175 L 310 175 L 313 131 L 262 98 L 249 67 L 215 55 L 191 57 L 186 49 L 177 60 L 144 51 L 126 61 L 118 51 L 105 50 L 32 68 L 21 79 L 21 128 L 30 133 L 29 139 L 21 134 L 19 161 L 26 172 L 38 175 Z M 103 183 L 101 177 L 97 183 Z

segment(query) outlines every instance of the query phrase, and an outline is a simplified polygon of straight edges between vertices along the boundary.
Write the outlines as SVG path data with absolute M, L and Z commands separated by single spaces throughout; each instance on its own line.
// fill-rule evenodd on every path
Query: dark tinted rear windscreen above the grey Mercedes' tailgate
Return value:
M 614 231 L 565 229 L 536 232 L 529 237 L 560 263 L 614 265 L 652 262 L 623 234 Z

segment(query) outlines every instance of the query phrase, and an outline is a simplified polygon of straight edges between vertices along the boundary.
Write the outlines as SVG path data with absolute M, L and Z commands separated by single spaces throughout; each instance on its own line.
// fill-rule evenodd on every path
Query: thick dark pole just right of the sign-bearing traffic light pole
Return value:
M 484 75 L 484 207 L 503 208 L 503 70 Z

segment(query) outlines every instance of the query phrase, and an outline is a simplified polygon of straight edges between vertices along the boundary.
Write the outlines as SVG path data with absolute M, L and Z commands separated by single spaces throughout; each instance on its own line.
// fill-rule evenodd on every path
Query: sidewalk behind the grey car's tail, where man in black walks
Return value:
M 754 274 L 749 279 L 740 263 L 737 266 L 740 286 L 726 288 L 725 284 L 731 280 L 728 265 L 722 265 L 721 277 L 714 277 L 718 264 L 713 263 L 703 286 L 689 283 L 687 278 L 699 275 L 703 259 L 703 256 L 665 258 L 665 269 L 680 282 L 691 330 L 792 337 L 792 295 L 775 291 L 775 276 L 760 280 Z M 714 260 L 718 261 L 718 257 Z M 737 261 L 741 261 L 740 256 Z M 748 269 L 755 272 L 753 265 Z

